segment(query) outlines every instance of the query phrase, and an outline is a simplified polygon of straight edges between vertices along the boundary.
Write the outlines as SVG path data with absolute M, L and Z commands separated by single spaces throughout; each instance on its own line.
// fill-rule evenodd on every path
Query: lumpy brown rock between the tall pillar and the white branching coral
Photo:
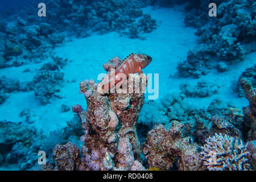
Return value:
M 177 161 L 179 170 L 200 170 L 200 147 L 192 138 L 181 138 L 180 122 L 174 121 L 169 131 L 162 125 L 156 126 L 148 132 L 143 152 L 148 167 L 168 170 L 174 167 Z

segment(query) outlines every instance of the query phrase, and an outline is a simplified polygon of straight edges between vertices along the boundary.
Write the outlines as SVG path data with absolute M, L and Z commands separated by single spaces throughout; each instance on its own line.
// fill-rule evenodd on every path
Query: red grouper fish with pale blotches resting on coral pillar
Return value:
M 130 56 L 127 56 L 126 59 L 122 60 L 122 64 L 115 71 L 114 76 L 106 75 L 104 80 L 102 81 L 104 85 L 102 85 L 102 92 L 107 93 L 109 89 L 112 89 L 114 86 L 118 88 L 123 84 L 125 80 L 123 80 L 121 75 L 125 75 L 126 79 L 129 77 L 130 73 L 139 73 L 141 75 L 142 69 L 145 68 L 152 61 L 152 57 L 144 54 L 135 54 L 132 53 Z M 122 73 L 122 74 L 121 74 Z M 122 79 L 122 80 L 121 80 Z

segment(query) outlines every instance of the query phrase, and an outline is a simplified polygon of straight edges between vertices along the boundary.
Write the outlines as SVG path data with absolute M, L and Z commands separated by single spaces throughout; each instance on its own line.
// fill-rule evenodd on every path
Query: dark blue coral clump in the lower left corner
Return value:
M 0 122 L 0 165 L 15 164 L 25 170 L 35 166 L 43 135 L 23 123 Z

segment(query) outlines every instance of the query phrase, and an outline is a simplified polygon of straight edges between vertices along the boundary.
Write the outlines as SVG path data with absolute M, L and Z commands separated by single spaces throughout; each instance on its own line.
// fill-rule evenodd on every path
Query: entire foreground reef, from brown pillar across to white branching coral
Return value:
M 110 74 L 110 69 L 121 63 L 118 57 L 113 57 L 104 64 L 104 69 Z M 245 113 L 246 109 L 242 113 L 220 100 L 214 100 L 205 110 L 192 109 L 185 102 L 187 96 L 181 92 L 170 94 L 166 97 L 169 99 L 160 104 L 146 102 L 147 111 L 150 111 L 147 106 L 154 106 L 154 110 L 158 108 L 155 111 L 157 118 L 152 116 L 153 111 L 152 117 L 139 118 L 141 110 L 143 113 L 144 94 L 135 93 L 135 89 L 143 91 L 143 84 L 139 75 L 129 76 L 129 79 L 134 78 L 140 81 L 137 85 L 128 84 L 127 93 L 98 92 L 101 84 L 94 80 L 80 83 L 87 109 L 80 105 L 74 105 L 72 109 L 81 121 L 77 125 L 83 130 L 81 143 L 57 144 L 53 148 L 53 160 L 43 166 L 44 170 L 254 168 L 254 89 L 250 83 L 241 83 L 250 101 L 249 113 Z M 252 142 L 246 144 L 247 140 Z

